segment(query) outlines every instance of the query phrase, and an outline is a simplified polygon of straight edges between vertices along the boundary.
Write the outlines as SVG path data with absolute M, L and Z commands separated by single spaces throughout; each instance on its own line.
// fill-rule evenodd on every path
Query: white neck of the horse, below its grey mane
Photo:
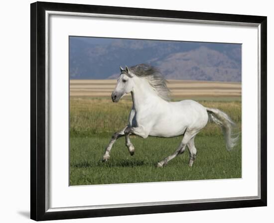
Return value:
M 135 81 L 134 90 L 131 94 L 133 106 L 137 111 L 163 101 L 145 79 L 138 78 L 137 81 Z

